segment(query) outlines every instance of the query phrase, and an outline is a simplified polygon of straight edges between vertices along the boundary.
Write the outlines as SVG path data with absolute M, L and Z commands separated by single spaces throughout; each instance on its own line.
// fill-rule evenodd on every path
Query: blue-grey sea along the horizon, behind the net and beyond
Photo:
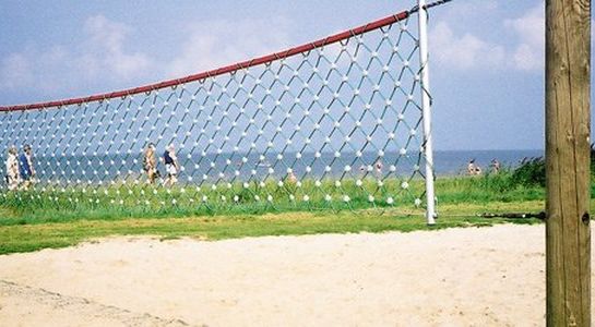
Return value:
M 160 153 L 158 154 L 160 155 Z M 435 171 L 438 177 L 465 174 L 467 162 L 475 159 L 484 171 L 490 161 L 497 159 L 502 167 L 514 168 L 524 158 L 544 156 L 544 150 L 437 150 Z M 181 166 L 179 180 L 186 183 L 218 183 L 228 181 L 281 179 L 290 169 L 298 179 L 358 178 L 366 173 L 379 177 L 408 177 L 417 166 L 424 172 L 424 158 L 419 154 L 400 155 L 388 152 L 380 159 L 377 153 L 236 153 L 201 154 L 179 153 Z M 109 182 L 121 179 L 136 179 L 142 174 L 142 155 L 108 155 L 76 157 L 36 157 L 37 178 L 40 182 L 59 181 L 67 183 Z M 380 165 L 378 162 L 381 162 Z M 165 167 L 158 164 L 165 175 Z

